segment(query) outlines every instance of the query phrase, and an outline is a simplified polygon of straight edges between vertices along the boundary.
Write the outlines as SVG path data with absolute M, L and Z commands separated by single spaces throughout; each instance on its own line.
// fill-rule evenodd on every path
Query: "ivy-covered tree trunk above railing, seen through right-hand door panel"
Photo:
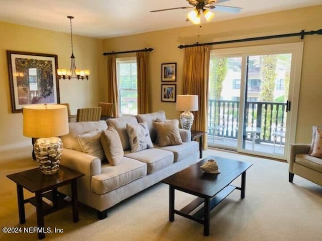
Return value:
M 261 56 L 261 101 L 274 100 L 274 88 L 276 73 L 277 55 L 262 55 Z

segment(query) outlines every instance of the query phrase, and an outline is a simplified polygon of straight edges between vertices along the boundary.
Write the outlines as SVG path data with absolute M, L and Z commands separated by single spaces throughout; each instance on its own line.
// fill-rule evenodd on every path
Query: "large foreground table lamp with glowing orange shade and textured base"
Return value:
M 60 136 L 68 134 L 67 107 L 61 104 L 32 104 L 23 108 L 26 137 L 38 138 L 34 144 L 41 172 L 54 174 L 59 169 L 62 154 Z

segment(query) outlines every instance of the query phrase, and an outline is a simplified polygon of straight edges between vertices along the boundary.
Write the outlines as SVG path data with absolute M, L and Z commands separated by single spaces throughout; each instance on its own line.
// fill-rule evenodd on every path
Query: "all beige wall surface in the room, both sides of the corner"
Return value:
M 125 51 L 152 47 L 149 57 L 149 77 L 151 83 L 152 111 L 164 109 L 168 118 L 177 118 L 175 103 L 161 102 L 162 63 L 177 63 L 177 94 L 181 93 L 184 50 L 180 44 L 213 42 L 255 36 L 317 30 L 322 23 L 322 5 L 280 13 L 259 15 L 243 19 L 215 22 L 199 26 L 150 32 L 113 39 L 99 40 L 73 36 L 76 66 L 91 70 L 90 80 L 60 80 L 60 101 L 69 102 L 72 113 L 79 107 L 97 105 L 106 100 L 106 57 L 103 51 Z M 184 21 L 184 20 L 183 20 Z M 36 29 L 0 22 L 0 148 L 29 142 L 22 135 L 22 114 L 12 113 L 6 50 L 49 53 L 58 55 L 58 66 L 69 68 L 70 35 L 54 31 Z M 304 42 L 300 103 L 298 111 L 296 142 L 309 142 L 311 126 L 321 125 L 322 111 L 322 36 L 305 36 L 274 39 L 227 45 L 212 48 L 265 45 L 276 43 Z M 120 57 L 126 55 L 120 55 Z M 198 64 L 198 63 L 196 63 Z

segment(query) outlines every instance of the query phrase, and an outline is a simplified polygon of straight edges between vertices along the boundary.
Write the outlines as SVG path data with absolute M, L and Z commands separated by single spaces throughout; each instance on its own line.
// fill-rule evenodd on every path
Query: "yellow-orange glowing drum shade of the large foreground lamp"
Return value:
M 67 107 L 62 104 L 26 105 L 23 117 L 26 137 L 60 137 L 69 132 Z

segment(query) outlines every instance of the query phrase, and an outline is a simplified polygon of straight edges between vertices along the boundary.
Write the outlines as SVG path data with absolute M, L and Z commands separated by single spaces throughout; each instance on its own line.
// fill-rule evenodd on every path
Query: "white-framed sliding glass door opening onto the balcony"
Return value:
M 300 43 L 212 51 L 208 145 L 286 159 L 301 59 Z

